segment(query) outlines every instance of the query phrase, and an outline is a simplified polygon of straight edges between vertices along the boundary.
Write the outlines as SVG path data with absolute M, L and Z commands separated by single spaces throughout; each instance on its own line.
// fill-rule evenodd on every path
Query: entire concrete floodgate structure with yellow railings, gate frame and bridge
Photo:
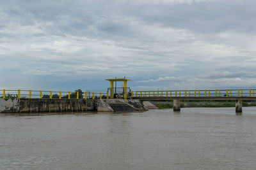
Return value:
M 234 101 L 236 113 L 241 113 L 243 101 L 256 100 L 255 89 L 132 91 L 127 87 L 129 79 L 106 80 L 110 82 L 107 92 L 2 89 L 0 113 L 145 111 L 154 108 L 148 101 L 173 102 L 173 111 L 180 111 L 180 101 Z M 123 87 L 116 87 L 118 81 L 124 83 Z

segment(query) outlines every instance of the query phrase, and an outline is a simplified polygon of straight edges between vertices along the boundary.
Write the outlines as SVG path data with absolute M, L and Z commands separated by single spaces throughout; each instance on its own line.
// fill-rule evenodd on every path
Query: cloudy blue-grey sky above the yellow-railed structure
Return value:
M 256 85 L 255 0 L 0 0 L 0 89 Z M 119 87 L 122 84 L 118 84 Z

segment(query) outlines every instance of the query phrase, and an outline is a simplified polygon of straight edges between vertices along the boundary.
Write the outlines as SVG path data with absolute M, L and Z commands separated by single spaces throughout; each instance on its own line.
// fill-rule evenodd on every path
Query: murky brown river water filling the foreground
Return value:
M 256 169 L 256 108 L 0 116 L 0 169 Z

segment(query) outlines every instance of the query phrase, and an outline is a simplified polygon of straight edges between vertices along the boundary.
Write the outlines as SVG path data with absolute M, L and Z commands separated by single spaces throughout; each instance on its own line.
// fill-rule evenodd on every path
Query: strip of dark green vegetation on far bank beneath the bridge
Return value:
M 173 108 L 172 101 L 168 103 L 154 103 L 159 109 Z M 243 101 L 243 106 L 256 106 L 255 101 Z M 236 107 L 235 101 L 221 101 L 221 102 L 191 102 L 191 103 L 180 103 L 181 108 L 221 108 L 221 107 Z

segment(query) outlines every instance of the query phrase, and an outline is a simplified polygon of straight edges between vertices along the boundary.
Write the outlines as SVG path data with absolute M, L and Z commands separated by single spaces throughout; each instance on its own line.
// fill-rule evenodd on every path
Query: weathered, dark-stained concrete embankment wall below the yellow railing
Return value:
M 124 99 L 0 99 L 0 113 L 54 113 L 77 111 L 113 112 L 111 104 L 126 104 L 135 111 L 145 111 L 140 100 Z

